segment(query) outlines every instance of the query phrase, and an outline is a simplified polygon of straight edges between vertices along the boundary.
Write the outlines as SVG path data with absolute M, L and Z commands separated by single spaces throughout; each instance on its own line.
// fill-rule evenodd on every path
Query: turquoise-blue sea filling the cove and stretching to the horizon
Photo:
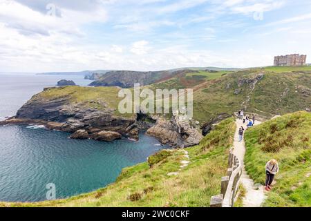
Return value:
M 14 115 L 30 93 L 53 85 L 54 78 L 45 81 L 30 76 L 21 82 L 11 76 L 10 82 L 19 81 L 19 85 L 6 84 L 11 90 L 3 90 L 2 81 L 0 116 Z M 27 86 L 29 81 L 31 86 Z M 124 167 L 144 162 L 164 148 L 143 134 L 139 142 L 122 139 L 109 143 L 70 140 L 68 135 L 36 126 L 0 126 L 0 201 L 46 200 L 49 183 L 55 184 L 57 198 L 93 191 L 114 182 Z

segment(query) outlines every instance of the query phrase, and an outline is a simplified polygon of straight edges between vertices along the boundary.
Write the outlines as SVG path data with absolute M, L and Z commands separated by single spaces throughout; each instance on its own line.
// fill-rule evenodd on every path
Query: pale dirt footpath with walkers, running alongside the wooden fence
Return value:
M 255 126 L 261 124 L 261 122 L 255 121 Z M 234 155 L 238 157 L 238 160 L 242 164 L 242 177 L 241 184 L 246 189 L 246 195 L 243 199 L 243 206 L 245 207 L 260 207 L 265 200 L 265 192 L 263 191 L 263 186 L 259 184 L 254 184 L 254 181 L 250 179 L 247 175 L 244 166 L 244 155 L 245 155 L 245 142 L 244 138 L 242 142 L 238 142 L 238 128 L 243 126 L 246 128 L 246 124 L 243 124 L 241 119 L 236 119 L 236 134 L 234 135 Z

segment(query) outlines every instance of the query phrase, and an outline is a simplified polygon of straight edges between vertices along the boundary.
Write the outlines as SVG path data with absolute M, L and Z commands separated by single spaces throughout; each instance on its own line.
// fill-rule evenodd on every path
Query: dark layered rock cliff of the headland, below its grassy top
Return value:
M 138 140 L 135 115 L 132 117 L 115 115 L 115 109 L 109 108 L 103 102 L 95 106 L 98 108 L 89 104 L 70 102 L 68 96 L 46 99 L 43 95 L 35 95 L 17 111 L 15 118 L 2 124 L 42 124 L 49 129 L 74 133 L 71 136 L 74 139 L 110 141 L 113 138 L 120 139 L 120 135 L 124 135 Z M 98 134 L 101 131 L 111 133 Z

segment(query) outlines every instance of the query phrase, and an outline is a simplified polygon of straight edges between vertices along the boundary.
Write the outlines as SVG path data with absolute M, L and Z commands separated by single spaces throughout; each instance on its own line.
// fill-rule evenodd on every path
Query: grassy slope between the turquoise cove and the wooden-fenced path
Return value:
M 126 168 L 114 184 L 66 200 L 37 203 L 0 203 L 0 206 L 209 206 L 211 195 L 220 193 L 227 173 L 227 155 L 236 124 L 226 119 L 198 146 L 185 151 L 164 150 L 148 162 Z M 168 173 L 178 172 L 169 176 Z

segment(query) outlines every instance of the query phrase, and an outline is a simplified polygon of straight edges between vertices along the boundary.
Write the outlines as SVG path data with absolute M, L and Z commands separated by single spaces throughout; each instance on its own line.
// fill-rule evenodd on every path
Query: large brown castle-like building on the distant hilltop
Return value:
M 274 57 L 274 66 L 305 66 L 307 55 L 281 55 Z

